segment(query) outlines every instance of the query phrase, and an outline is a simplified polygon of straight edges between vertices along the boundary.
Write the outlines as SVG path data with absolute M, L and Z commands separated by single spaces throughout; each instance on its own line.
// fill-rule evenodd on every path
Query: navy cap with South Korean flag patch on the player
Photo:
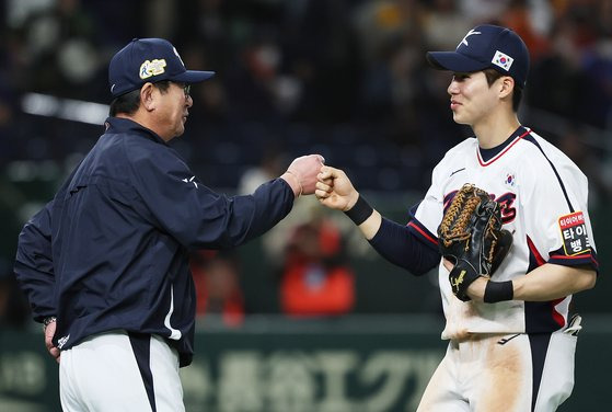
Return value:
M 473 72 L 488 68 L 510 76 L 521 89 L 529 72 L 529 52 L 510 28 L 483 24 L 472 28 L 454 52 L 428 52 L 427 61 L 437 69 Z

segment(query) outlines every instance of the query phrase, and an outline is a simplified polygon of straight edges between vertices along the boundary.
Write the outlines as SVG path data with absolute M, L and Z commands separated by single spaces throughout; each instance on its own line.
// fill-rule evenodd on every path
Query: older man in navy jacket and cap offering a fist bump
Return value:
M 298 158 L 252 195 L 204 185 L 168 141 L 185 130 L 186 70 L 160 38 L 112 59 L 106 130 L 20 234 L 15 273 L 60 360 L 65 411 L 184 410 L 178 367 L 192 362 L 195 293 L 188 251 L 238 247 L 312 194 L 323 158 Z

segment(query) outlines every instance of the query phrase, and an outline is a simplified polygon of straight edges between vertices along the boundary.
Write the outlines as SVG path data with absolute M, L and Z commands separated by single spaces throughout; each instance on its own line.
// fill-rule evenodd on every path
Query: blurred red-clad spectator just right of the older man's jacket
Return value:
M 244 299 L 240 287 L 238 261 L 230 252 L 203 250 L 190 260 L 196 285 L 196 317 L 219 316 L 228 327 L 244 320 Z

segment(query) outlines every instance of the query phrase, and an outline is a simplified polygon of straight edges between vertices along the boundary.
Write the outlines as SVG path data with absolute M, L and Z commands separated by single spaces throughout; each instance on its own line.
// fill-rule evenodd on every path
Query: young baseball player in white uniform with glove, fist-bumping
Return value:
M 338 169 L 324 167 L 315 192 L 344 210 L 374 249 L 413 274 L 438 266 L 447 354 L 423 394 L 419 412 L 555 411 L 574 387 L 580 317 L 571 295 L 594 286 L 596 245 L 587 210 L 587 178 L 533 130 L 517 108 L 529 53 L 512 31 L 480 25 L 454 52 L 430 52 L 430 65 L 453 72 L 448 87 L 457 123 L 475 137 L 449 150 L 432 172 L 407 225 L 383 218 Z M 490 279 L 452 294 L 437 228 L 465 183 L 503 205 L 512 247 Z

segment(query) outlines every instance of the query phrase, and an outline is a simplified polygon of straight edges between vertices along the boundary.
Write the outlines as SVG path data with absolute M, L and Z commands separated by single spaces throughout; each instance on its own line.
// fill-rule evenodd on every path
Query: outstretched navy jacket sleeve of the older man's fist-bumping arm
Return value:
M 204 185 L 172 149 L 132 163 L 143 216 L 188 249 L 240 245 L 274 227 L 292 208 L 293 192 L 281 179 L 252 195 L 218 194 Z

